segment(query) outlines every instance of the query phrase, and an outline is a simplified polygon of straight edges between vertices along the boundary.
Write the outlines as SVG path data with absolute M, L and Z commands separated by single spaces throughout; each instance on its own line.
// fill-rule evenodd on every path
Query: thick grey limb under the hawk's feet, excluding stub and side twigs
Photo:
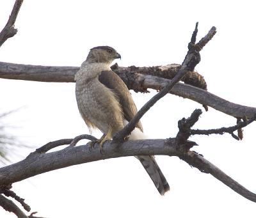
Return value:
M 52 142 L 54 143 L 54 142 Z M 112 144 L 111 144 L 112 143 Z M 191 143 L 191 142 L 188 142 Z M 0 186 L 10 183 L 19 182 L 31 176 L 38 175 L 76 164 L 93 162 L 115 157 L 126 157 L 135 155 L 169 155 L 177 156 L 185 160 L 191 166 L 195 166 L 204 173 L 210 173 L 228 187 L 256 202 L 256 195 L 239 185 L 235 180 L 225 175 L 218 167 L 214 166 L 204 157 L 196 155 L 195 152 L 184 153 L 179 144 L 174 139 L 148 139 L 138 141 L 126 141 L 116 148 L 113 142 L 104 143 L 104 153 L 100 153 L 99 146 L 96 144 L 95 149 L 90 149 L 87 145 L 65 148 L 58 152 L 51 153 L 33 153 L 26 159 L 0 168 Z M 204 166 L 205 163 L 205 166 Z

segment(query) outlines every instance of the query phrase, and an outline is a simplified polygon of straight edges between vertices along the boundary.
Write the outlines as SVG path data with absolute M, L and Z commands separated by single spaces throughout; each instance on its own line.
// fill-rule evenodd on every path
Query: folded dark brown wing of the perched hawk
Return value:
M 124 81 L 122 81 L 122 79 L 111 70 L 102 71 L 99 75 L 99 81 L 116 94 L 119 104 L 123 109 L 125 120 L 130 121 L 137 113 L 137 107 L 134 104 L 131 93 L 129 92 Z M 137 123 L 136 127 L 143 131 L 140 121 Z

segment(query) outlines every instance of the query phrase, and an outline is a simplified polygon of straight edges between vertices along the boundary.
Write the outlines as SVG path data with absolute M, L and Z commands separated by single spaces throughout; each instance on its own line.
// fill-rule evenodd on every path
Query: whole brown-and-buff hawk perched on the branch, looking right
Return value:
M 103 136 L 98 141 L 100 146 L 124 128 L 124 125 L 137 113 L 127 86 L 111 71 L 111 63 L 117 58 L 121 58 L 120 54 L 109 46 L 94 47 L 75 77 L 79 112 L 89 128 L 97 127 L 103 132 Z M 145 139 L 140 122 L 129 136 L 129 140 L 132 139 Z M 163 195 L 168 191 L 170 187 L 154 156 L 137 158 L 159 193 Z

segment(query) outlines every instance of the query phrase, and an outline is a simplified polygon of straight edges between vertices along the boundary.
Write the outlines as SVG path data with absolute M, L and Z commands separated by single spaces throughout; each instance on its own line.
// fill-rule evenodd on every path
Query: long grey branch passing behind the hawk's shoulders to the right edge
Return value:
M 122 70 L 118 70 L 122 68 Z M 127 84 L 130 90 L 147 92 L 147 88 L 161 90 L 169 82 L 169 79 L 164 79 L 153 75 L 143 75 L 137 72 L 130 72 L 129 68 L 118 67 L 115 69 L 121 79 Z M 151 74 L 150 69 L 148 74 Z M 172 66 L 170 71 L 172 72 Z M 0 78 L 3 79 L 21 79 L 27 81 L 42 81 L 42 82 L 74 82 L 74 75 L 79 67 L 76 66 L 36 66 L 36 65 L 18 65 L 13 63 L 0 62 Z M 228 102 L 208 91 L 182 84 L 178 82 L 170 91 L 173 95 L 178 95 L 183 98 L 189 98 L 203 105 L 208 105 L 230 116 L 237 118 L 252 118 L 256 114 L 255 107 L 247 107 L 244 105 Z

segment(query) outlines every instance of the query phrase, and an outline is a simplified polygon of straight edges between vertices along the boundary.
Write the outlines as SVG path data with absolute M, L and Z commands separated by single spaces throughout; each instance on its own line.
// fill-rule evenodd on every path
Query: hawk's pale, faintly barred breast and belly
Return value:
M 116 132 L 124 126 L 122 109 L 115 94 L 97 77 L 76 81 L 76 99 L 88 127 L 97 127 L 108 134 L 110 128 Z

